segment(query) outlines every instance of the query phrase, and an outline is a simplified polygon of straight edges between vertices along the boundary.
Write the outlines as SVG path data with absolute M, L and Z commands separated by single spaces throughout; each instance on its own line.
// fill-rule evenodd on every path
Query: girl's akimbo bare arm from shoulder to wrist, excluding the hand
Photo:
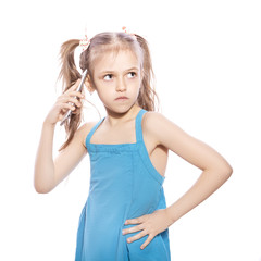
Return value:
M 147 114 L 146 128 L 152 133 L 158 144 L 202 170 L 194 186 L 166 208 L 167 215 L 174 223 L 221 187 L 232 175 L 233 169 L 213 148 L 191 137 L 162 114 Z

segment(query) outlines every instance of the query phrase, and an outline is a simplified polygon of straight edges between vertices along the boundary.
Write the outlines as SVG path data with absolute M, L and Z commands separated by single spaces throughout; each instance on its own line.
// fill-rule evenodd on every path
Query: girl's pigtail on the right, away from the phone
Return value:
M 144 78 L 142 88 L 138 96 L 138 104 L 147 111 L 156 111 L 156 99 L 159 107 L 159 97 L 154 90 L 154 73 L 148 42 L 139 35 L 135 35 L 144 52 Z M 159 110 L 159 108 L 157 108 Z

